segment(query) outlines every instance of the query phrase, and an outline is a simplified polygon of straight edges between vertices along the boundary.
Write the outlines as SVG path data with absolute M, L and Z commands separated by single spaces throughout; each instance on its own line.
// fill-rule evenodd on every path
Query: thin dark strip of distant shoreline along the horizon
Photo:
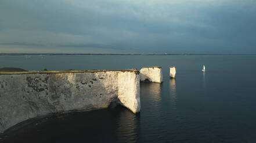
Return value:
M 256 54 L 70 54 L 70 53 L 0 53 L 1 55 L 256 55 Z

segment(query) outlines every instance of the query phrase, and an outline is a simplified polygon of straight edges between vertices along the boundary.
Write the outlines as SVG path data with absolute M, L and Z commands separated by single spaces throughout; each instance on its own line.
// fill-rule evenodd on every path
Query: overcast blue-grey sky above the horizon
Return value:
M 0 52 L 256 54 L 256 1 L 1 0 Z

